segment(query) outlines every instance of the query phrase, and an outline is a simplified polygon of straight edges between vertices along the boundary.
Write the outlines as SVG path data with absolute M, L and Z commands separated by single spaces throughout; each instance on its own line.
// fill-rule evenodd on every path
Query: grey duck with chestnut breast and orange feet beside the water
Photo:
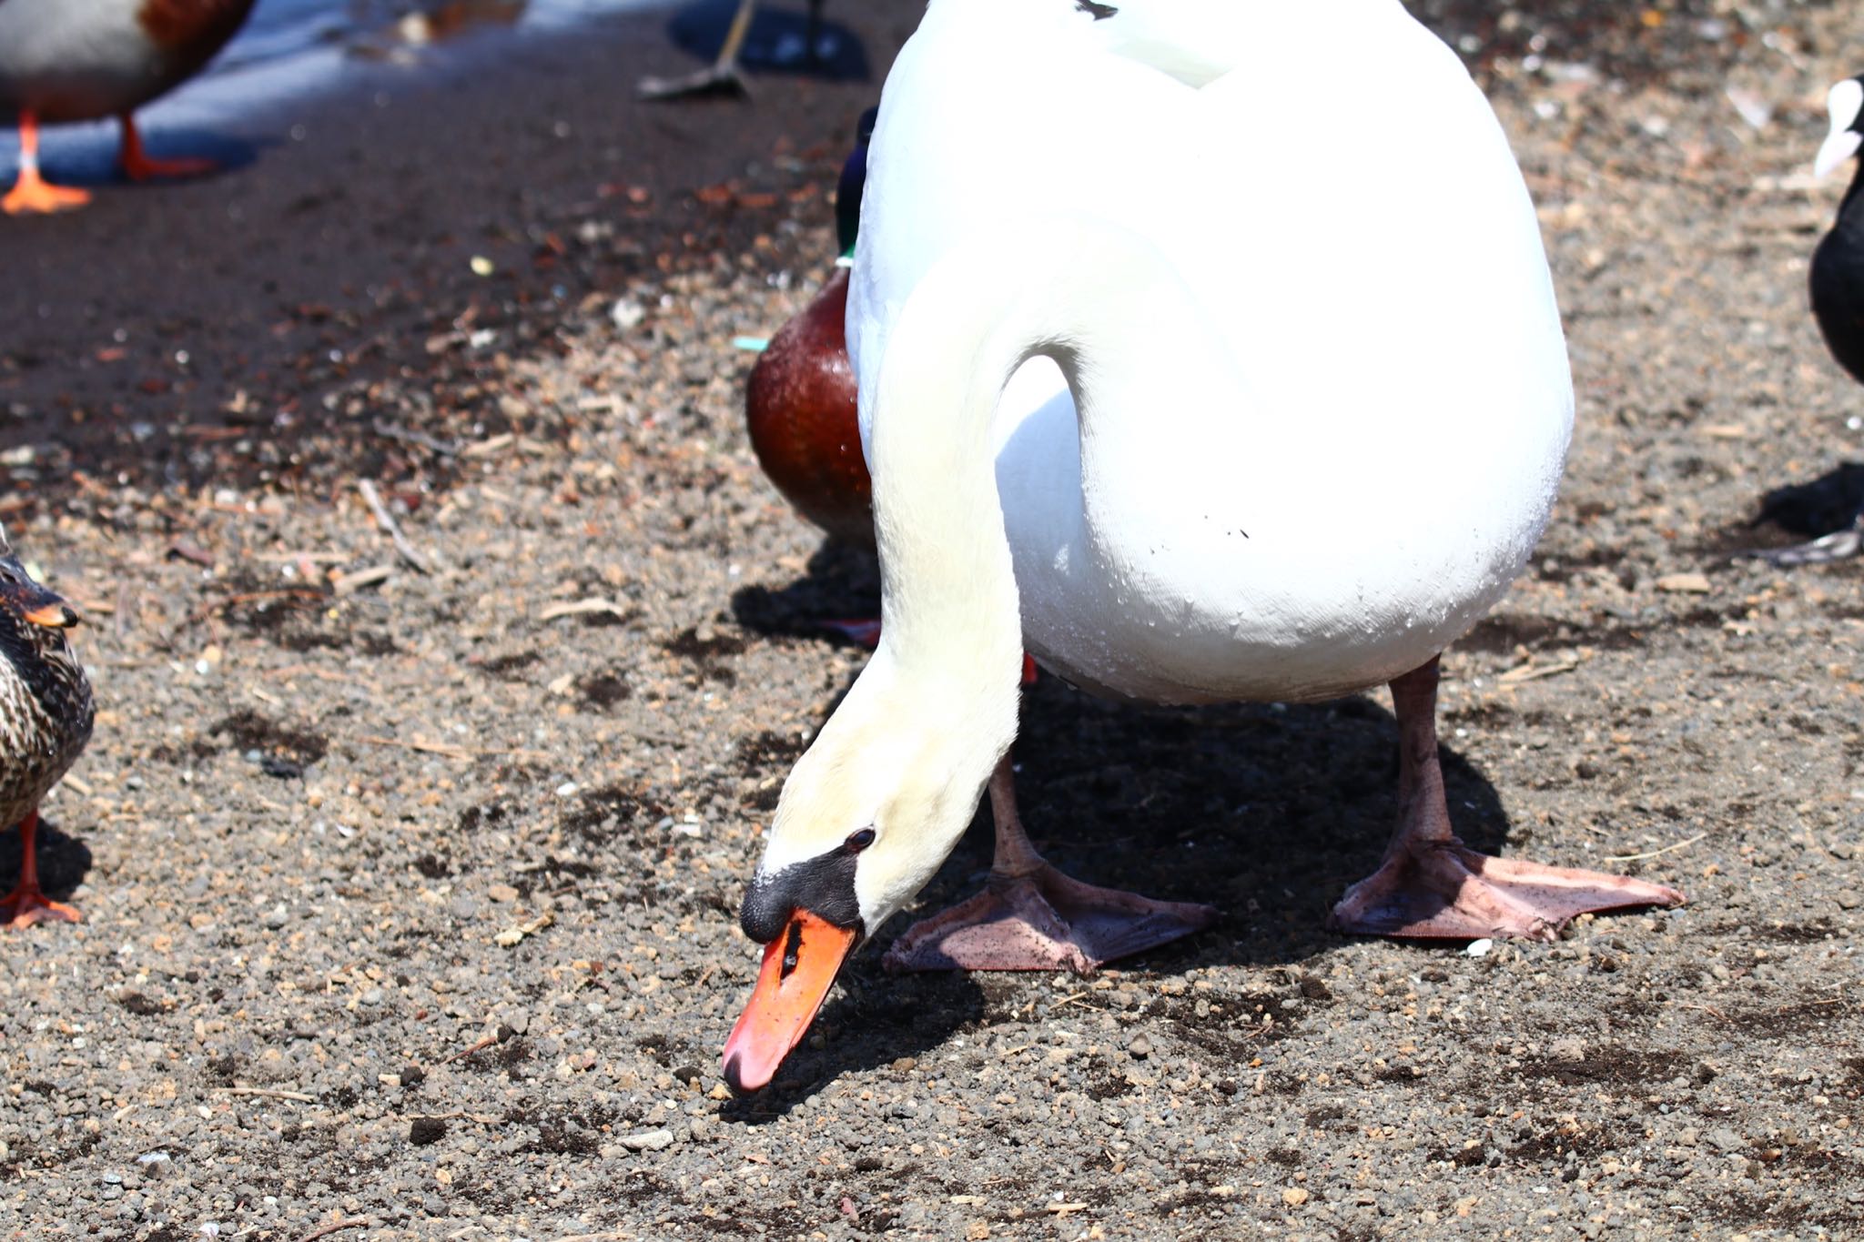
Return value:
M 0 0 L 0 119 L 19 123 L 19 181 L 0 210 L 69 210 L 91 197 L 39 175 L 43 123 L 119 117 L 130 181 L 211 171 L 211 160 L 151 158 L 132 114 L 199 73 L 248 11 L 252 0 Z

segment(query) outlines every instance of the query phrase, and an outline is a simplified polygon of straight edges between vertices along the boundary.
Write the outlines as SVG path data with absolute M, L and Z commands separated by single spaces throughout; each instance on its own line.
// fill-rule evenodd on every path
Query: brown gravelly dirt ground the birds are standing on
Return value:
M 1225 922 L 1090 979 L 887 978 L 895 924 L 731 1099 L 757 834 L 863 659 L 809 620 L 876 592 L 761 479 L 734 337 L 828 274 L 917 6 L 831 6 L 876 76 L 753 104 L 636 104 L 688 60 L 613 19 L 0 222 L 0 521 L 101 704 L 41 847 L 86 922 L 0 946 L 0 1235 L 1857 1236 L 1864 568 L 1724 555 L 1864 492 L 1804 296 L 1849 6 L 1422 7 L 1515 142 L 1579 393 L 1534 566 L 1445 659 L 1452 808 L 1687 907 L 1327 935 L 1394 814 L 1381 693 L 1044 680 L 1038 842 Z M 986 866 L 980 823 L 921 909 Z

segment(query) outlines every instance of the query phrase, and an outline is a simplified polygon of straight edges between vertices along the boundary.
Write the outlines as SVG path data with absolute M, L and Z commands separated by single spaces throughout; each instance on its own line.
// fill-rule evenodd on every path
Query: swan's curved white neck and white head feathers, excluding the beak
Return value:
M 783 786 L 761 864 L 779 873 L 876 827 L 856 870 L 869 929 L 951 853 L 1016 739 L 1021 607 L 992 451 L 1005 384 L 1036 354 L 1066 372 L 1083 473 L 1057 479 L 1048 499 L 1076 506 L 1092 546 L 1081 495 L 1120 475 L 1094 473 L 1096 445 L 1118 454 L 1124 436 L 1146 432 L 1133 402 L 1182 400 L 1176 384 L 1221 356 L 1139 236 L 1074 220 L 1010 233 L 1008 255 L 994 231 L 941 257 L 893 322 L 870 393 L 880 650 Z M 1096 423 L 1115 408 L 1118 419 Z

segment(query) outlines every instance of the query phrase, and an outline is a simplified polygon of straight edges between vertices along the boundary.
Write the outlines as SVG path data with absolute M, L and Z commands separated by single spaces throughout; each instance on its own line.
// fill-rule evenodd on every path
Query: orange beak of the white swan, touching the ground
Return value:
M 828 998 L 854 942 L 854 927 L 796 911 L 783 935 L 764 946 L 757 989 L 725 1041 L 725 1082 L 733 1091 L 759 1091 L 775 1078 Z

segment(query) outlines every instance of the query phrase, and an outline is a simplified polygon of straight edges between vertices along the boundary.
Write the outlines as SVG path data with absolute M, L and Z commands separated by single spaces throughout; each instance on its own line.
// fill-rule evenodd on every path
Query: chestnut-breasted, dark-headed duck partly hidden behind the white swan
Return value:
M 852 261 L 876 110 L 861 115 L 856 147 L 835 186 L 835 235 Z M 874 547 L 872 482 L 848 361 L 848 266 L 770 339 L 744 387 L 751 447 L 777 492 L 831 536 Z

